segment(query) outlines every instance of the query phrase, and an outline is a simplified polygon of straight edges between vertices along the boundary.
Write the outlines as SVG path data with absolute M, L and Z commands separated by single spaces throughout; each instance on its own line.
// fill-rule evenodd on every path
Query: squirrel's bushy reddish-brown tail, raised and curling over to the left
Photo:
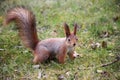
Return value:
M 38 43 L 34 14 L 24 7 L 12 8 L 7 12 L 5 24 L 15 21 L 23 44 L 34 50 Z

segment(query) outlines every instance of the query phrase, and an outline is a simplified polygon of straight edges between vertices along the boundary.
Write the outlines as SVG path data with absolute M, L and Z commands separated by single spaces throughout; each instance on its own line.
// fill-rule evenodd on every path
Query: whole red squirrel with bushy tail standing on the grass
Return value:
M 74 31 L 71 33 L 69 26 L 64 23 L 65 38 L 49 38 L 39 40 L 36 30 L 36 20 L 33 12 L 24 7 L 10 9 L 5 18 L 5 25 L 14 21 L 17 24 L 20 38 L 29 48 L 33 55 L 34 63 L 42 63 L 48 59 L 56 58 L 59 63 L 65 62 L 66 54 L 74 59 L 74 47 L 78 40 L 76 36 L 77 24 L 74 24 Z

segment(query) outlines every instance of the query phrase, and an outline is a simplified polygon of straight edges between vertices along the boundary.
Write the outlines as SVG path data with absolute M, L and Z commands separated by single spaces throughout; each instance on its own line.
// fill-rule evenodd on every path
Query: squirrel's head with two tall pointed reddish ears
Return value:
M 64 30 L 65 30 L 65 34 L 66 34 L 66 44 L 68 47 L 75 47 L 75 45 L 78 41 L 78 38 L 76 36 L 77 27 L 78 27 L 78 25 L 75 23 L 74 31 L 70 32 L 69 26 L 66 23 L 64 23 Z

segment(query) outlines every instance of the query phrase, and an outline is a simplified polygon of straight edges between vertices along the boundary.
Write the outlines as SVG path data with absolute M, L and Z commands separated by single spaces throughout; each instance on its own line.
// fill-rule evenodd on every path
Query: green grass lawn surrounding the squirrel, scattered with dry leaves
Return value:
M 119 0 L 5 0 L 1 4 L 0 80 L 38 80 L 39 73 L 42 80 L 58 80 L 60 76 L 65 80 L 120 79 L 120 61 L 99 67 L 120 55 Z M 16 25 L 2 25 L 5 12 L 16 5 L 26 5 L 34 12 L 40 40 L 64 37 L 63 23 L 67 22 L 71 30 L 78 23 L 76 51 L 81 57 L 71 61 L 67 56 L 65 64 L 50 61 L 34 69 L 33 55 L 23 46 Z M 119 18 L 114 21 L 116 17 Z M 109 37 L 101 38 L 103 32 L 108 32 Z M 91 49 L 91 42 L 103 41 L 107 42 L 107 48 Z

